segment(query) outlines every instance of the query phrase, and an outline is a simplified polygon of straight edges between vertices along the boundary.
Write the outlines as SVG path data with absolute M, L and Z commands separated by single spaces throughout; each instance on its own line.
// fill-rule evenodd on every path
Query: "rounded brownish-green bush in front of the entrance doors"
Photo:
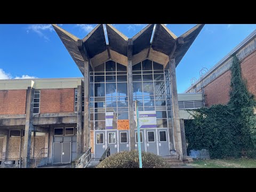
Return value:
M 164 159 L 153 153 L 142 152 L 143 168 L 166 167 Z M 97 168 L 139 168 L 138 150 L 122 151 L 104 159 Z

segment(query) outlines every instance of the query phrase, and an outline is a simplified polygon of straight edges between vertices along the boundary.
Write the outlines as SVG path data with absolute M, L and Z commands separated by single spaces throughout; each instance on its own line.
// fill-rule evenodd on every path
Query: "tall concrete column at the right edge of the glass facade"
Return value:
M 182 153 L 182 140 L 180 132 L 180 117 L 178 105 L 178 92 L 176 82 L 176 66 L 175 59 L 169 57 L 169 70 L 170 70 L 170 93 L 172 97 L 172 111 L 173 111 L 173 132 L 175 140 L 175 148 L 180 160 L 183 159 Z

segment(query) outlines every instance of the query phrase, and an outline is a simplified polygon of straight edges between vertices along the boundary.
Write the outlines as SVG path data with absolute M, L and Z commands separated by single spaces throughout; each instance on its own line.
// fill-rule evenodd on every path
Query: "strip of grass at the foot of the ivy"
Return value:
M 194 159 L 187 165 L 195 168 L 256 168 L 256 159 Z

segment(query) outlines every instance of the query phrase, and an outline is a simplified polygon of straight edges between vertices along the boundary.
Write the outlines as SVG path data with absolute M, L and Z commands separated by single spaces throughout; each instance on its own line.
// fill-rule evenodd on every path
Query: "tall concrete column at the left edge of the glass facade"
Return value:
M 84 141 L 83 152 L 87 150 L 90 143 L 90 108 L 89 108 L 89 61 L 84 62 Z

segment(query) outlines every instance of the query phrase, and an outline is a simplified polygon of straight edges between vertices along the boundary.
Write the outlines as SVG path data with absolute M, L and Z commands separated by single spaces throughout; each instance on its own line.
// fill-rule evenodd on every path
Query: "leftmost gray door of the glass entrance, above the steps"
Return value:
M 105 131 L 95 131 L 94 132 L 95 135 L 95 157 L 96 158 L 100 158 L 105 149 L 106 149 L 106 144 L 105 144 Z M 111 151 L 110 151 L 111 154 Z

